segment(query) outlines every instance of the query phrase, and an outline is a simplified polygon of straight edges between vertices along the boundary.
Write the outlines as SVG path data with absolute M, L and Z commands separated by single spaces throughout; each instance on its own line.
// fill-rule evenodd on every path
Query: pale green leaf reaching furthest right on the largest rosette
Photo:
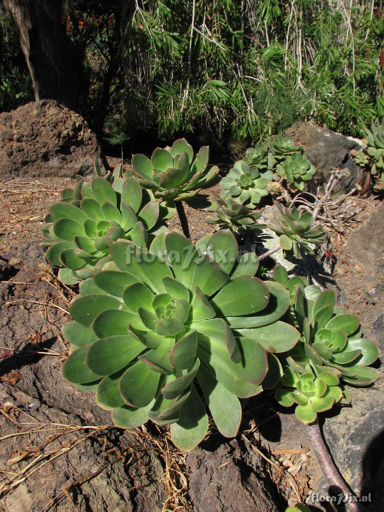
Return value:
M 267 352 L 280 353 L 292 349 L 300 338 L 300 332 L 285 322 L 274 322 L 252 329 L 236 329 L 242 336 L 254 339 Z M 321 363 L 319 363 L 321 364 Z

